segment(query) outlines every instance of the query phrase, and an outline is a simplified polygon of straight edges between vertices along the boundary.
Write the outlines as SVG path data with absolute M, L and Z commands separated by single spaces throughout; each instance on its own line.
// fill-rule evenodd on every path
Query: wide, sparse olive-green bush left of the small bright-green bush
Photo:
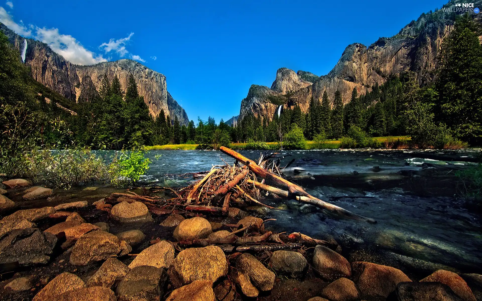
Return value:
M 30 177 L 55 188 L 68 189 L 107 178 L 105 161 L 88 147 L 54 151 L 34 149 L 25 153 L 24 163 Z

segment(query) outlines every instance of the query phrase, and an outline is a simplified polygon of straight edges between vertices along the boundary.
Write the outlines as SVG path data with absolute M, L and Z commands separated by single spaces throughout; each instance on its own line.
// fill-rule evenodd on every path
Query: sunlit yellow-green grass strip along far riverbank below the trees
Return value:
M 404 139 L 410 141 L 410 137 L 406 136 L 386 136 L 386 137 L 374 137 L 374 139 L 380 143 L 384 144 L 392 140 Z M 266 144 L 272 146 L 273 149 L 279 145 L 278 142 L 267 142 Z M 165 144 L 165 145 L 153 145 L 146 146 L 147 150 L 194 150 L 199 144 Z M 229 144 L 232 149 L 246 149 L 247 143 L 231 143 Z M 323 142 L 307 141 L 306 149 L 335 149 L 340 148 L 340 140 L 325 140 Z M 406 146 L 408 148 L 408 145 Z

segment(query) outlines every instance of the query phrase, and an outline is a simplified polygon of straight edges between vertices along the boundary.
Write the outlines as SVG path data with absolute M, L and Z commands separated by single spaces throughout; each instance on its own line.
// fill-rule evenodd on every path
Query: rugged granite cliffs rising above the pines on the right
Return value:
M 461 1 L 451 2 L 446 7 L 452 7 L 458 2 Z M 481 0 L 475 2 L 475 7 L 482 6 Z M 272 95 L 285 95 L 289 101 L 284 106 L 297 104 L 306 113 L 311 97 L 321 101 L 321 96 L 326 91 L 333 100 L 335 91 L 340 90 L 343 101 L 347 103 L 353 88 L 359 93 L 365 93 L 375 83 L 383 84 L 390 74 L 411 70 L 417 74 L 421 84 L 429 83 L 434 77 L 442 41 L 454 28 L 454 17 L 455 13 L 441 9 L 422 14 L 417 21 L 403 27 L 397 35 L 380 38 L 368 47 L 360 43 L 350 44 L 335 67 L 321 77 L 306 71 L 296 73 L 280 68 L 271 88 L 251 86 L 248 95 L 241 101 L 240 118 L 253 114 L 271 119 L 277 107 L 268 99 Z M 475 20 L 482 23 L 482 14 L 475 15 Z

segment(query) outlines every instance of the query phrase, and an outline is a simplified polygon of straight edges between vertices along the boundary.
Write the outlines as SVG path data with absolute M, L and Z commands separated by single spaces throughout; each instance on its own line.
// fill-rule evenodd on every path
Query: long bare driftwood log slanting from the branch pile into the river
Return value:
M 296 185 L 295 183 L 291 183 L 290 181 L 283 179 L 280 176 L 272 172 L 269 172 L 268 170 L 261 168 L 253 160 L 242 156 L 240 153 L 235 152 L 229 149 L 228 147 L 221 146 L 219 150 L 225 153 L 226 155 L 235 158 L 238 162 L 241 162 L 242 164 L 246 165 L 257 176 L 259 176 L 260 178 L 266 179 L 268 183 L 273 183 L 275 186 L 283 190 L 287 190 L 288 196 L 295 196 L 296 199 L 302 202 L 315 205 L 323 209 L 325 212 L 331 213 L 336 216 L 346 217 L 346 218 L 370 222 L 370 223 L 376 222 L 374 219 L 367 218 L 362 215 L 350 212 L 346 209 L 343 209 L 341 207 L 325 202 L 317 197 L 311 196 L 302 187 Z

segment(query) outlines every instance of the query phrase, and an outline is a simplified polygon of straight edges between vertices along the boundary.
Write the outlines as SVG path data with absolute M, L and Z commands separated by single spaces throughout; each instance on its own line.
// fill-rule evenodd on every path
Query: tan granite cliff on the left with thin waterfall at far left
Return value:
M 117 75 L 125 92 L 129 74 L 132 74 L 139 95 L 144 97 L 152 116 L 156 117 L 163 109 L 172 120 L 177 116 L 181 125 L 189 122 L 186 111 L 167 91 L 166 77 L 145 65 L 128 59 L 96 65 L 74 65 L 45 43 L 23 38 L 2 23 L 0 30 L 21 53 L 22 60 L 30 67 L 35 80 L 74 102 L 92 98 L 97 93 L 104 74 L 107 74 L 110 82 Z

